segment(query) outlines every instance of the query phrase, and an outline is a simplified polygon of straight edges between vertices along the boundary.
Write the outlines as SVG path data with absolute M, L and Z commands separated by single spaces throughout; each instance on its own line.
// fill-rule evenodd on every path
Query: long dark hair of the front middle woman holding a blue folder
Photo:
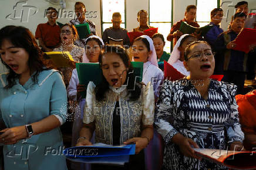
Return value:
M 129 56 L 126 52 L 126 50 L 121 46 L 114 46 L 114 45 L 106 45 L 105 48 L 102 50 L 102 55 L 99 56 L 99 64 L 102 68 L 102 56 L 105 53 L 116 53 L 120 56 L 122 59 L 124 65 L 128 68 L 127 70 L 127 76 L 126 81 L 124 84 L 127 84 L 127 96 L 129 96 L 130 101 L 137 100 L 140 98 L 141 88 L 136 82 L 136 76 L 133 73 L 133 67 L 130 63 Z M 98 86 L 96 86 L 95 92 L 96 92 L 96 100 L 102 101 L 103 98 L 105 98 L 105 93 L 109 89 L 109 83 L 107 83 L 107 80 L 102 74 L 102 83 L 100 83 Z

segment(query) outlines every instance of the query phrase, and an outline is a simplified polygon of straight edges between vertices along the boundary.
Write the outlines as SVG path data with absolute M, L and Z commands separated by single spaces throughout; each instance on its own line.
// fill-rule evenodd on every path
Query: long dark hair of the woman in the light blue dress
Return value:
M 38 74 L 43 70 L 49 70 L 44 67 L 42 62 L 42 51 L 39 49 L 38 44 L 36 43 L 35 37 L 32 35 L 31 31 L 23 26 L 14 26 L 9 25 L 5 26 L 0 30 L 0 47 L 4 40 L 9 40 L 12 45 L 15 47 L 20 47 L 26 50 L 29 54 L 28 67 L 30 71 L 35 71 L 33 74 L 32 81 L 33 84 L 38 83 Z M 8 84 L 5 86 L 5 89 L 10 89 L 14 86 L 15 79 L 19 78 L 19 74 L 16 74 L 14 70 L 11 69 L 1 58 L 1 62 L 8 69 L 7 81 Z

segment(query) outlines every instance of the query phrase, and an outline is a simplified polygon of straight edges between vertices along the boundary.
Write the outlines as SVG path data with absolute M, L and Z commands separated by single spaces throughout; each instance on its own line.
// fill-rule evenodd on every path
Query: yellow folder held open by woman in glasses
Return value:
M 45 52 L 43 53 L 45 60 L 50 60 L 50 62 L 55 67 L 74 67 L 73 57 L 69 52 Z

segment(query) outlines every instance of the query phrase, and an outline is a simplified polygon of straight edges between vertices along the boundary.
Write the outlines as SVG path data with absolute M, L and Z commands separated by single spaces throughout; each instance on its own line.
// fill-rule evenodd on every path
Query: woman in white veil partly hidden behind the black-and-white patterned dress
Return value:
M 176 45 L 173 48 L 173 52 L 171 52 L 171 56 L 168 60 L 168 63 L 171 64 L 178 72 L 188 76 L 190 72 L 186 70 L 183 64 L 184 60 L 184 51 L 191 42 L 196 41 L 197 38 L 193 35 L 184 34 L 178 39 Z

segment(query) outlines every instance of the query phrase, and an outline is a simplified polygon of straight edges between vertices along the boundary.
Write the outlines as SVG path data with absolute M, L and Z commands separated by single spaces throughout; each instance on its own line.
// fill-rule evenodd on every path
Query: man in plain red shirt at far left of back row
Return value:
M 60 28 L 56 25 L 56 19 L 58 18 L 56 9 L 49 7 L 46 12 L 48 22 L 38 25 L 35 38 L 38 39 L 43 52 L 51 52 L 60 43 Z

